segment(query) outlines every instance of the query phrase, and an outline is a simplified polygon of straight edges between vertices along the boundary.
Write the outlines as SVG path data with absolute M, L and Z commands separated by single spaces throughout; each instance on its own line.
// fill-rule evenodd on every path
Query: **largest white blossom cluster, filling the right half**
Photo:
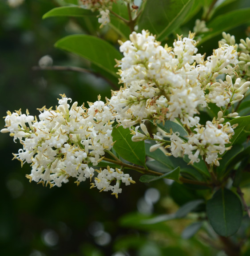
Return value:
M 218 120 L 207 121 L 204 127 L 199 123 L 199 110 L 208 103 L 226 110 L 244 98 L 250 85 L 249 81 L 240 78 L 233 83 L 232 77 L 238 67 L 237 45 L 226 42 L 220 43 L 206 61 L 204 55 L 197 53 L 197 42 L 192 33 L 189 37 L 179 36 L 173 47 L 161 46 L 145 30 L 133 32 L 129 41 L 120 42 L 124 57 L 117 61 L 117 66 L 124 87 L 112 93 L 110 104 L 117 120 L 132 130 L 134 141 L 151 139 L 142 127 L 146 120 L 164 123 L 165 120 L 175 122 L 177 118 L 183 127 L 187 127 L 186 140 L 180 138 L 179 133 L 153 134 L 157 145 L 152 146 L 151 151 L 159 146 L 169 146 L 166 141 L 164 143 L 164 135 L 170 137 L 173 156 L 187 154 L 190 163 L 195 163 L 202 155 L 207 164 L 219 165 L 219 154 L 230 149 L 226 144 L 230 143 L 234 127 L 229 122 L 222 124 L 225 111 L 220 111 Z M 243 45 L 246 49 L 247 42 Z M 217 80 L 220 74 L 226 74 L 225 81 Z M 237 116 L 238 113 L 227 115 Z M 141 125 L 131 127 L 136 123 Z

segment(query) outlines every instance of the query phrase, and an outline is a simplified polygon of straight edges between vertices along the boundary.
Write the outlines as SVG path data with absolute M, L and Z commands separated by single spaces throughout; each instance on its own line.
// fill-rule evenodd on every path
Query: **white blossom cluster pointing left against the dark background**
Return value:
M 103 159 L 105 150 L 113 146 L 111 131 L 114 114 L 111 107 L 104 102 L 88 102 L 89 108 L 77 106 L 74 102 L 71 107 L 65 95 L 61 95 L 56 110 L 40 110 L 39 119 L 21 110 L 15 113 L 7 112 L 6 128 L 1 132 L 10 132 L 10 135 L 20 140 L 23 149 L 14 158 L 23 163 L 30 163 L 32 171 L 27 177 L 30 181 L 60 187 L 68 181 L 68 177 L 75 177 L 76 182 L 85 181 L 94 177 L 96 166 Z M 106 177 L 105 170 L 98 171 L 102 182 L 96 186 L 100 190 L 111 190 L 114 195 L 120 193 L 119 184 L 106 186 L 112 180 L 126 180 L 132 182 L 131 177 L 116 171 L 112 179 Z M 104 187 L 102 187 L 105 186 Z

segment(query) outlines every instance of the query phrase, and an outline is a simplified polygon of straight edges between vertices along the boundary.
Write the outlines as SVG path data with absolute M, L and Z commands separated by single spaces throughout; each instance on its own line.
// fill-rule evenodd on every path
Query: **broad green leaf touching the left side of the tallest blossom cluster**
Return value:
M 115 59 L 121 59 L 122 55 L 108 42 L 89 35 L 72 35 L 63 37 L 56 42 L 57 48 L 75 53 L 99 66 L 99 68 L 119 77 L 116 72 Z

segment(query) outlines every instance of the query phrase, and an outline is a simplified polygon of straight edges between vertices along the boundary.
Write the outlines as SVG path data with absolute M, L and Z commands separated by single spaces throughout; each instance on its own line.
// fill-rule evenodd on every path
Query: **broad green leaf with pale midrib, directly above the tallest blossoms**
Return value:
M 147 0 L 139 19 L 139 31 L 148 29 L 163 40 L 178 28 L 189 13 L 194 0 Z

